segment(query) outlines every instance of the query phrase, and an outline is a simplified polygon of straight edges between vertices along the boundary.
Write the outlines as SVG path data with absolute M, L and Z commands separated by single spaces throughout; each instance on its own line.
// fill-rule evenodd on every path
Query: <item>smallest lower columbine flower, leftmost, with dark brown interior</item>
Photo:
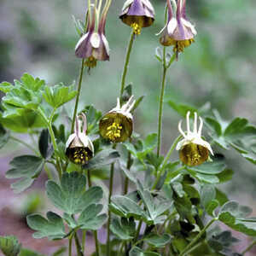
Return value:
M 81 131 L 81 121 L 83 119 L 84 127 Z M 90 138 L 86 135 L 87 121 L 84 113 L 79 117 L 76 117 L 74 133 L 71 134 L 66 143 L 66 155 L 69 160 L 77 165 L 84 165 L 93 157 L 94 148 L 90 141 Z

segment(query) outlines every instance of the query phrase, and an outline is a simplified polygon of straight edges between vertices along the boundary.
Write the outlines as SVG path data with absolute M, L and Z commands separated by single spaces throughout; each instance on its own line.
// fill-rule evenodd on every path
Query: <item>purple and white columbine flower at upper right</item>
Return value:
M 178 55 L 185 47 L 195 42 L 195 27 L 189 22 L 186 16 L 186 0 L 177 0 L 176 16 L 173 14 L 172 4 L 167 1 L 168 20 L 162 29 L 160 44 L 164 46 L 173 45 L 173 51 Z M 172 2 L 175 3 L 173 0 Z

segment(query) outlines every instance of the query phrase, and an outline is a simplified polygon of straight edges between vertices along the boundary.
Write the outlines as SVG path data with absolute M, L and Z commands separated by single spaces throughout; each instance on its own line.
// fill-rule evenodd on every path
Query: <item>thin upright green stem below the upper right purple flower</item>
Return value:
M 160 156 L 160 144 L 161 144 L 161 131 L 162 131 L 162 117 L 163 117 L 163 103 L 164 103 L 164 95 L 166 88 L 166 47 L 163 50 L 163 75 L 161 82 L 161 90 L 160 90 L 160 102 L 159 102 L 159 112 L 158 112 L 158 135 L 157 135 L 157 157 Z

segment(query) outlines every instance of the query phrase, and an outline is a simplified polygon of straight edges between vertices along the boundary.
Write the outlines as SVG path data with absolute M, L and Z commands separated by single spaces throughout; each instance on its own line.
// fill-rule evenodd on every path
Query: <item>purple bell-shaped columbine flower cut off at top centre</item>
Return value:
M 127 0 L 119 18 L 133 28 L 135 35 L 139 35 L 142 27 L 153 24 L 154 8 L 148 0 Z

